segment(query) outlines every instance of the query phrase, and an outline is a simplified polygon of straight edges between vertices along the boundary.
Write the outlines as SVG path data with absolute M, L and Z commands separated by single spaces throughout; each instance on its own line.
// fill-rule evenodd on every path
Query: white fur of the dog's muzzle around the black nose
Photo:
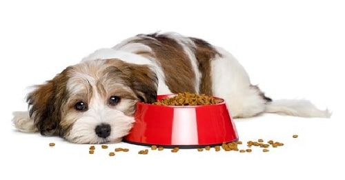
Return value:
M 82 116 L 71 119 L 77 119 L 70 134 L 66 136 L 68 141 L 75 143 L 117 143 L 121 137 L 128 134 L 135 121 L 133 117 L 126 116 L 121 110 L 128 107 L 126 101 L 121 101 L 116 109 L 110 108 L 104 103 L 97 93 L 90 101 L 89 110 L 83 112 Z M 68 119 L 68 117 L 67 117 Z M 104 138 L 98 137 L 95 128 L 102 123 L 109 124 L 111 127 L 110 136 Z

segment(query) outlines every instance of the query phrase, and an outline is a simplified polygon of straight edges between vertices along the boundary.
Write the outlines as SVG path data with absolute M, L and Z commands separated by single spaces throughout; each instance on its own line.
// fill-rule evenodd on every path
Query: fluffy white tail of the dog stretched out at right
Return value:
M 296 117 L 331 117 L 328 109 L 319 110 L 311 101 L 304 99 L 278 99 L 266 103 L 265 112 Z

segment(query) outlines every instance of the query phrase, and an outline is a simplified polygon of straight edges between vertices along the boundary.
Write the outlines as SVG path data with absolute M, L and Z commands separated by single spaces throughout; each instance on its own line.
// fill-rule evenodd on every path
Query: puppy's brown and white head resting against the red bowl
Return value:
M 119 142 L 135 121 L 135 103 L 156 100 L 157 83 L 146 65 L 84 61 L 28 94 L 30 118 L 43 135 L 73 143 Z

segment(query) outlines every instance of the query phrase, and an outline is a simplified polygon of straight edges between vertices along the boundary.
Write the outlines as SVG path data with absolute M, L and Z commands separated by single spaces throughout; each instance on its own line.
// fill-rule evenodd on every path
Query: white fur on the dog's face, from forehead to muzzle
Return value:
M 101 61 L 88 61 L 86 63 L 99 63 L 100 67 L 103 65 Z M 88 72 L 88 70 L 85 70 L 85 72 Z M 71 94 L 86 92 L 88 88 L 92 88 L 93 92 L 86 112 L 77 113 L 79 115 L 77 117 L 75 114 L 66 117 L 66 121 L 75 121 L 70 133 L 66 136 L 69 141 L 75 143 L 116 143 L 121 141 L 121 137 L 128 134 L 132 128 L 134 118 L 124 114 L 124 111 L 132 106 L 132 103 L 128 99 L 121 99 L 115 108 L 110 107 L 106 103 L 108 99 L 100 97 L 96 82 L 97 79 L 94 77 L 78 71 L 74 72 L 72 77 L 68 79 L 67 89 Z M 87 85 L 85 86 L 85 84 Z M 121 86 L 121 83 L 119 83 L 119 86 Z M 130 89 L 128 88 L 127 91 L 130 92 Z M 106 138 L 98 137 L 95 133 L 95 128 L 102 123 L 111 127 L 110 135 Z

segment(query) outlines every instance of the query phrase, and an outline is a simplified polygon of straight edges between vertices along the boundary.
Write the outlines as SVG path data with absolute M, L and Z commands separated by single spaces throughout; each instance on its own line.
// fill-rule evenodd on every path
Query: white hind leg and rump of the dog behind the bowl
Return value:
M 270 99 L 250 83 L 246 70 L 232 54 L 221 48 L 217 51 L 221 56 L 211 61 L 213 95 L 226 101 L 233 118 L 253 117 L 264 112 Z

